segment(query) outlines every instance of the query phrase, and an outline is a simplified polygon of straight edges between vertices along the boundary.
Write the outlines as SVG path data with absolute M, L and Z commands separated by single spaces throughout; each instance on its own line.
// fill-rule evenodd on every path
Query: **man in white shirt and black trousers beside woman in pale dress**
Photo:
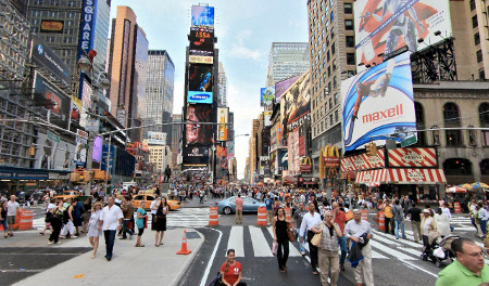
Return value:
M 105 258 L 108 261 L 112 259 L 112 250 L 114 249 L 115 232 L 122 230 L 122 219 L 124 218 L 120 207 L 114 205 L 114 198 L 109 197 L 109 205 L 102 209 L 99 220 L 99 231 L 103 230 L 105 237 Z

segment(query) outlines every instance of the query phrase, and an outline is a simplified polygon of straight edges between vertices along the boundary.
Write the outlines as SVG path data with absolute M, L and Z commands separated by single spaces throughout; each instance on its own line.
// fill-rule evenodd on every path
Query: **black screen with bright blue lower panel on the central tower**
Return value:
M 187 102 L 212 104 L 212 65 L 190 65 Z

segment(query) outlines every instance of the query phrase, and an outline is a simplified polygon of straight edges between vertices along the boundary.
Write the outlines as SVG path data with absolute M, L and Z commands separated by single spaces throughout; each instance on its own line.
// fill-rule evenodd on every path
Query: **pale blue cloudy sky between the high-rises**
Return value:
M 260 107 L 260 88 L 265 87 L 272 42 L 306 42 L 306 0 L 112 0 L 133 9 L 145 30 L 150 50 L 166 50 L 175 64 L 174 113 L 184 105 L 185 49 L 192 5 L 215 8 L 215 37 L 220 62 L 227 76 L 227 102 L 235 113 L 235 134 L 250 134 Z M 236 138 L 238 178 L 244 177 L 249 138 Z

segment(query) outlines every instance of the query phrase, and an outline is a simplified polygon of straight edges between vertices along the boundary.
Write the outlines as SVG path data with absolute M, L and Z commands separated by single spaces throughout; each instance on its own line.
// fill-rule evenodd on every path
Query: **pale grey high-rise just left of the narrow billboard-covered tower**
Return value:
M 175 64 L 167 51 L 148 51 L 145 125 L 172 122 L 173 94 L 175 87 L 174 78 Z M 148 131 L 166 133 L 166 144 L 172 144 L 172 126 L 153 126 L 145 128 L 145 138 L 148 138 Z

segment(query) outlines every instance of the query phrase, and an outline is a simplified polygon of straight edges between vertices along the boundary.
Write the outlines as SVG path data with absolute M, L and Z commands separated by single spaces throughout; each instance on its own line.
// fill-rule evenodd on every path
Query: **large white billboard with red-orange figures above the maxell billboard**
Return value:
M 354 3 L 356 64 L 381 63 L 378 54 L 388 55 L 408 46 L 416 52 L 425 43 L 434 44 L 451 37 L 450 8 L 448 0 L 358 0 Z M 435 36 L 435 31 L 441 36 Z

